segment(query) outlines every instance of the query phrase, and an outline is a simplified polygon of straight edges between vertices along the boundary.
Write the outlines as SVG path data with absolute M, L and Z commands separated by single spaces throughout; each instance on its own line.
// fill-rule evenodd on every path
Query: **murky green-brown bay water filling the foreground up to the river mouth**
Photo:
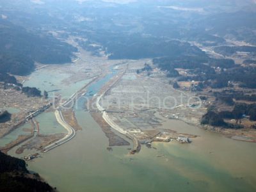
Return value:
M 195 151 L 173 141 L 154 143 L 157 150 L 142 147 L 134 156 L 127 155 L 129 147 L 108 152 L 108 140 L 90 114 L 77 111 L 77 120 L 83 131 L 74 140 L 29 163 L 60 191 L 255 191 L 251 173 L 228 165 L 241 163 L 210 161 L 218 156 L 205 153 L 204 146 Z

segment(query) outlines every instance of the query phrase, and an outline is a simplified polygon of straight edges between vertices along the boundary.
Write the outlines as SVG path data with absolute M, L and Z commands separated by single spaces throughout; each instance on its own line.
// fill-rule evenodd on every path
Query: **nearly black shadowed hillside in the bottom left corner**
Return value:
M 42 182 L 38 174 L 30 174 L 24 160 L 0 152 L 0 191 L 55 191 Z

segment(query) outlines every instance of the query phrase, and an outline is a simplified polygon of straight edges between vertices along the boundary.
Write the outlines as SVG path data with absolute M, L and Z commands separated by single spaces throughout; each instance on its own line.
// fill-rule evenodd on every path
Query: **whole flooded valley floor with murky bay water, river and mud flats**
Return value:
M 180 92 L 161 72 L 151 77 L 137 74 L 136 67 L 143 67 L 147 60 L 111 61 L 88 54 L 85 60 L 82 53 L 80 56 L 74 64 L 36 70 L 26 81 L 29 86 L 41 82 L 37 84 L 40 90 L 56 90 L 49 99 L 55 95 L 65 98 L 57 104 L 82 89 L 73 108 L 67 105 L 68 109 L 61 109 L 76 136 L 40 152 L 67 134 L 52 107 L 36 116 L 40 131 L 8 154 L 24 157 L 40 152 L 40 157 L 28 162 L 29 170 L 40 173 L 60 191 L 255 191 L 255 143 L 232 140 L 196 126 L 205 108 L 189 107 L 188 98 L 195 95 L 184 93 L 177 108 L 172 108 L 171 99 L 165 100 L 166 108 L 159 107 L 154 99 L 164 104 L 164 98 L 179 98 Z M 72 70 L 81 73 L 78 80 L 70 75 L 72 70 L 66 70 L 72 65 L 76 66 Z M 90 72 L 86 68 L 91 68 Z M 56 75 L 52 77 L 51 72 Z M 147 97 L 152 99 L 145 103 L 143 98 Z M 31 127 L 33 124 L 24 124 L 15 129 L 1 145 L 21 134 L 31 134 Z M 179 136 L 189 137 L 191 143 L 179 143 Z M 136 141 L 140 150 L 130 154 Z

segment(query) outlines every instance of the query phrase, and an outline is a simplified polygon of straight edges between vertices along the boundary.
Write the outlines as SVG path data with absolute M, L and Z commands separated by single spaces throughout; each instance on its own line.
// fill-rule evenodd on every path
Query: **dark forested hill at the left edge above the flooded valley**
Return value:
M 0 19 L 0 72 L 28 74 L 34 62 L 67 63 L 76 48 L 51 35 L 26 31 L 6 19 Z

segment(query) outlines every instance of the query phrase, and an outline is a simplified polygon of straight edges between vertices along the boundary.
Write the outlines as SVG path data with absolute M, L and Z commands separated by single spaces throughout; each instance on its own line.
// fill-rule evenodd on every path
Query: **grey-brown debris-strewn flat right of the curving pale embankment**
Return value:
M 180 99 L 178 100 L 180 92 L 174 90 L 164 79 L 148 78 L 142 74 L 138 76 L 133 72 L 134 70 L 130 71 L 122 74 L 115 83 L 108 85 L 109 87 L 98 97 L 97 106 L 100 106 L 99 110 L 104 109 L 102 110 L 104 119 L 108 120 L 111 127 L 120 129 L 119 132 L 127 134 L 134 140 L 135 146 L 136 143 L 139 143 L 139 146 L 140 143 L 170 141 L 170 138 L 177 138 L 178 133 L 168 134 L 167 132 L 163 136 L 163 131 L 157 129 L 163 120 L 156 116 L 156 113 L 161 113 L 160 116 L 184 114 L 181 111 L 191 114 L 200 113 L 199 110 L 187 109 L 190 95 L 184 95 L 186 96 L 184 103 L 181 103 Z M 172 107 L 174 104 L 172 100 L 166 100 L 170 95 L 177 98 L 175 103 L 177 108 Z M 193 102 L 193 99 L 191 101 Z M 164 108 L 163 104 L 168 108 Z

